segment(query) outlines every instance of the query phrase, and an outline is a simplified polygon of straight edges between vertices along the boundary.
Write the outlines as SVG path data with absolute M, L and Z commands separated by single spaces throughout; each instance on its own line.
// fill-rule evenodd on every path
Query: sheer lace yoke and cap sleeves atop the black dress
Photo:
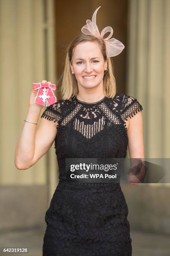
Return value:
M 70 100 L 59 100 L 47 107 L 41 118 L 58 123 L 60 129 L 57 136 L 64 128 L 72 126 L 85 138 L 90 139 L 105 127 L 115 126 L 127 141 L 125 121 L 141 110 L 143 110 L 142 105 L 137 99 L 124 94 L 116 94 L 113 99 L 104 97 L 94 103 L 81 102 L 72 97 Z

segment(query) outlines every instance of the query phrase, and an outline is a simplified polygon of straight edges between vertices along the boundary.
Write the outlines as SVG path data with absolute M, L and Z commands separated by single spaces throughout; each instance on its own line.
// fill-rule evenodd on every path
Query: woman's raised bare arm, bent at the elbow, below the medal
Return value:
M 37 123 L 40 110 L 29 108 L 25 120 Z M 45 118 L 40 125 L 25 122 L 15 149 L 15 166 L 17 169 L 28 169 L 34 165 L 52 146 L 57 134 L 57 122 Z

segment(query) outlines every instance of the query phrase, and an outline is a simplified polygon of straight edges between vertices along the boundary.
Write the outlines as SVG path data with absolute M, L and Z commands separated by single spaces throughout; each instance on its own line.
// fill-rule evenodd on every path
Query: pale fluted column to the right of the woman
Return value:
M 146 158 L 170 157 L 169 24 L 169 0 L 130 0 L 127 94 L 143 105 Z

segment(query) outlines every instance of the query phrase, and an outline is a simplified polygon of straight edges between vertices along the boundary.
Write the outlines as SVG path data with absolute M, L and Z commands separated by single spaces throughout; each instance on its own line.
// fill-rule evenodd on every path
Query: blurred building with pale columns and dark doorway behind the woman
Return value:
M 45 212 L 59 175 L 54 144 L 27 170 L 16 169 L 15 146 L 32 82 L 47 80 L 60 87 L 67 45 L 99 6 L 99 31 L 112 26 L 112 37 L 125 45 L 114 57 L 117 92 L 143 106 L 145 157 L 170 158 L 170 0 L 0 0 L 0 247 L 7 232 L 45 232 Z M 170 184 L 121 187 L 138 238 L 142 232 L 167 238 Z

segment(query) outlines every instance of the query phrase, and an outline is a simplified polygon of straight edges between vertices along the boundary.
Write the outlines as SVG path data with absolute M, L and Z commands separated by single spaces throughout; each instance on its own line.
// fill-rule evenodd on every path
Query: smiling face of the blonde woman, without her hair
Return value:
M 70 67 L 75 74 L 79 88 L 102 87 L 107 61 L 104 61 L 100 46 L 96 41 L 77 44 Z

